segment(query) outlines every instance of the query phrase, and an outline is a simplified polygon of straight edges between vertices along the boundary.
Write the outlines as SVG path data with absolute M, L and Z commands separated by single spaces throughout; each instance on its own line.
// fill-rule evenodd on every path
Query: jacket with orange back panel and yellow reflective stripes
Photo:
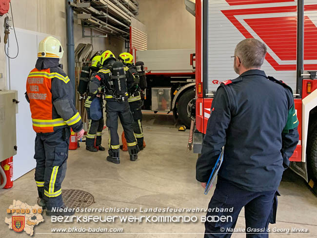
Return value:
M 82 129 L 73 101 L 74 89 L 58 59 L 38 59 L 27 78 L 25 97 L 30 103 L 35 132 L 49 133 L 67 126 L 74 132 Z

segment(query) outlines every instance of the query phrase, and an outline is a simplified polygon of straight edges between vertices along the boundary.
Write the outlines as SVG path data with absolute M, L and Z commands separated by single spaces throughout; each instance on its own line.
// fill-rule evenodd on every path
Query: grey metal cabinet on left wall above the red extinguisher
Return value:
M 16 90 L 0 90 L 0 161 L 17 154 Z

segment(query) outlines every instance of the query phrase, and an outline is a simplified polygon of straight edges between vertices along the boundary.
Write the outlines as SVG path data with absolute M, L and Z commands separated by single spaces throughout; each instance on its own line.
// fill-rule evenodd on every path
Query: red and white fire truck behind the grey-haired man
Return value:
M 262 70 L 292 87 L 299 142 L 291 169 L 311 187 L 317 182 L 316 0 L 185 0 L 196 17 L 196 131 L 200 153 L 213 96 L 221 81 L 235 79 L 235 46 L 255 38 L 266 43 Z M 195 8 L 193 7 L 195 6 Z

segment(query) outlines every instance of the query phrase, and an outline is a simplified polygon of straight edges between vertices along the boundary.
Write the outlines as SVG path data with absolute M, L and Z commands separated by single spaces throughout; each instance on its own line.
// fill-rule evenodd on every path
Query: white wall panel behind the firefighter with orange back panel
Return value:
M 38 54 L 38 45 L 48 35 L 16 28 L 19 40 L 19 56 L 7 60 L 8 89 L 18 90 L 19 113 L 17 123 L 17 155 L 13 157 L 13 179 L 18 179 L 36 166 L 34 157 L 34 140 L 36 133 L 32 128 L 32 119 L 29 103 L 24 97 L 26 79 L 34 69 Z M 56 37 L 59 39 L 59 37 Z M 21 40 L 23 39 L 23 40 Z M 60 39 L 59 39 L 60 40 Z M 14 34 L 9 37 L 9 56 L 15 56 L 17 44 Z

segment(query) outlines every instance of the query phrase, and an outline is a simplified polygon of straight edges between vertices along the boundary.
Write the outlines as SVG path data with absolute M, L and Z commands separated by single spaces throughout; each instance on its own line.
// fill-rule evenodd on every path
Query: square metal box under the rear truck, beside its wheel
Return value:
M 153 87 L 152 88 L 152 111 L 171 111 L 172 106 L 172 88 L 171 87 Z

